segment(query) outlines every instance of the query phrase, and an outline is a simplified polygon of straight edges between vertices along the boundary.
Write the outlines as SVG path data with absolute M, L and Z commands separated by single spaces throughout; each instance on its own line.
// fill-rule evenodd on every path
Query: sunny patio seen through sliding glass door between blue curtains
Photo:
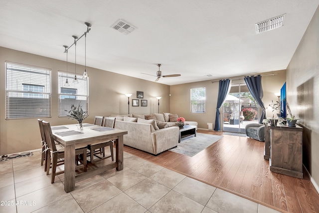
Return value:
M 232 85 L 223 104 L 223 131 L 245 133 L 248 123 L 258 123 L 258 108 L 245 83 Z

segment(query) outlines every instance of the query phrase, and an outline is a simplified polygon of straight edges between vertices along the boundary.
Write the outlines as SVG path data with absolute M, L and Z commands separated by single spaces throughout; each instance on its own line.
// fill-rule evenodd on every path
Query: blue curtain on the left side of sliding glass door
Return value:
M 215 131 L 220 130 L 220 124 L 219 124 L 219 108 L 222 106 L 224 103 L 228 89 L 230 85 L 230 79 L 224 79 L 224 80 L 219 80 L 219 88 L 218 88 L 218 99 L 217 99 L 217 107 L 216 107 L 216 118 L 215 118 Z

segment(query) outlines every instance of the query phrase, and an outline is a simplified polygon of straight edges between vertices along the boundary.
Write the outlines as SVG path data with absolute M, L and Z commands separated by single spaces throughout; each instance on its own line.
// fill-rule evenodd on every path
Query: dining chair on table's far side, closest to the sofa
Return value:
M 109 127 L 113 128 L 115 127 L 115 118 L 113 117 L 104 117 L 103 118 L 103 126 L 104 127 Z M 91 144 L 88 146 L 88 149 L 90 150 L 90 161 L 91 163 L 93 162 L 98 162 L 107 158 L 112 158 L 112 161 L 114 161 L 114 154 L 113 154 L 113 143 L 114 141 L 107 141 L 103 143 L 97 143 L 97 144 Z M 104 147 L 110 146 L 110 151 L 111 155 L 105 157 L 105 149 Z M 102 153 L 100 150 L 96 151 L 97 149 L 102 149 Z M 103 157 L 98 156 L 98 154 L 102 154 Z M 97 157 L 98 159 L 94 160 L 94 156 Z

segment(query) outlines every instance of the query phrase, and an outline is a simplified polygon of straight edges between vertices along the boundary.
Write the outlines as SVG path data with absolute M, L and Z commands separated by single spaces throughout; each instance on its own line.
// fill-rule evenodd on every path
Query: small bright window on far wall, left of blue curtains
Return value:
M 205 112 L 205 101 L 206 101 L 205 91 L 206 91 L 205 87 L 190 89 L 191 112 L 194 112 L 194 113 Z

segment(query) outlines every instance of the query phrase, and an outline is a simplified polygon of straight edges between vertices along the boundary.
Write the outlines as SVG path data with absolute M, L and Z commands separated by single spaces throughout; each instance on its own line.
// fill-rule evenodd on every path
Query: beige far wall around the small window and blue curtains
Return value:
M 269 74 L 275 75 L 269 75 Z M 233 77 L 234 79 L 242 78 L 242 80 L 233 80 L 232 84 L 245 83 L 244 76 Z M 213 83 L 212 83 L 213 81 Z M 271 100 L 276 101 L 278 97 L 274 94 L 280 92 L 280 88 L 286 81 L 286 71 L 279 70 L 273 72 L 262 73 L 262 85 L 264 91 L 263 102 L 265 106 L 271 104 Z M 206 108 L 205 113 L 190 113 L 190 89 L 195 87 L 206 88 Z M 197 121 L 198 128 L 208 129 L 207 123 L 213 123 L 215 126 L 218 81 L 208 80 L 187 84 L 178 84 L 170 86 L 170 112 L 176 113 L 178 116 L 184 117 L 186 121 Z M 272 112 L 268 112 L 267 116 L 271 116 Z

